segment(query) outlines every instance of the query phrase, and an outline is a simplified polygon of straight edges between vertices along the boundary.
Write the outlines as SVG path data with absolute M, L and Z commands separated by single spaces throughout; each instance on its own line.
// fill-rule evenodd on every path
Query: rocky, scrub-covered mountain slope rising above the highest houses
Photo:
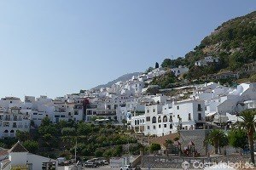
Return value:
M 185 59 L 193 64 L 207 55 L 220 57 L 222 67 L 237 71 L 256 59 L 256 11 L 224 22 Z

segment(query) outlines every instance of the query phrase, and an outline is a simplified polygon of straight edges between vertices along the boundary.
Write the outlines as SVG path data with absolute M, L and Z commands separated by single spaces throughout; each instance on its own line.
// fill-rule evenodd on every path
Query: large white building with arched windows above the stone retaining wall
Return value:
M 182 100 L 169 104 L 145 106 L 145 114 L 132 116 L 131 127 L 144 135 L 163 136 L 178 129 L 191 130 L 203 127 L 205 122 L 204 101 Z

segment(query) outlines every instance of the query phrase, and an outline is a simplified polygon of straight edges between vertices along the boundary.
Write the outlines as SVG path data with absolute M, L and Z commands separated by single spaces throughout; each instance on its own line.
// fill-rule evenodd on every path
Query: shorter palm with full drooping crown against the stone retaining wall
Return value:
M 221 139 L 224 138 L 224 132 L 219 129 L 213 129 L 205 139 L 205 143 L 212 144 L 215 149 L 215 154 L 218 154 L 218 147 L 221 146 Z

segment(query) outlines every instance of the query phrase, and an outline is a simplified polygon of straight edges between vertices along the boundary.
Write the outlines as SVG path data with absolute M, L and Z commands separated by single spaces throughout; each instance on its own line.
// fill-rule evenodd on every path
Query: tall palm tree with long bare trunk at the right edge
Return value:
M 248 142 L 250 145 L 250 155 L 252 163 L 255 165 L 254 160 L 254 146 L 253 146 L 253 135 L 255 133 L 256 126 L 256 111 L 255 110 L 247 110 L 241 112 L 241 122 L 239 122 L 239 127 L 244 129 L 247 132 Z

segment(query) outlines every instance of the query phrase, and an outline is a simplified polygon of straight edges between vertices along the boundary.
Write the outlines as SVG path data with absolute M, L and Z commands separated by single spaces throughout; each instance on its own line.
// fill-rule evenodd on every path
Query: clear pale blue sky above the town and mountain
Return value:
M 0 97 L 93 88 L 184 56 L 255 1 L 0 0 Z

